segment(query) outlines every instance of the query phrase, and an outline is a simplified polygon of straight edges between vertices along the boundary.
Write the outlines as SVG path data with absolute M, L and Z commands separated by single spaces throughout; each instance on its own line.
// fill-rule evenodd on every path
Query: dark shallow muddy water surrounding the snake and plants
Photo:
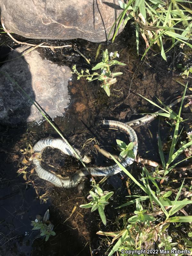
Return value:
M 128 142 L 126 136 L 120 132 L 103 130 L 99 126 L 102 119 L 111 119 L 126 122 L 138 118 L 138 114 L 156 111 L 146 100 L 142 99 L 138 93 L 150 100 L 157 102 L 156 97 L 169 104 L 172 99 L 180 96 L 183 87 L 176 82 L 191 81 L 178 77 L 179 70 L 177 63 L 183 63 L 180 52 L 170 52 L 168 62 L 162 60 L 159 55 L 154 56 L 148 53 L 146 58 L 141 60 L 137 56 L 135 48 L 135 38 L 132 30 L 125 30 L 116 39 L 114 44 L 103 44 L 102 49 L 108 48 L 108 52 L 120 52 L 119 60 L 126 63 L 124 67 L 115 67 L 115 71 L 122 71 L 123 75 L 117 78 L 117 83 L 111 89 L 111 96 L 105 94 L 97 82 L 87 83 L 85 80 L 76 80 L 74 75 L 69 81 L 68 89 L 71 94 L 71 102 L 65 116 L 55 118 L 54 122 L 65 134 L 71 145 L 82 149 L 84 153 L 92 157 L 90 165 L 105 166 L 112 162 L 100 156 L 94 149 L 94 144 L 99 143 L 109 152 L 118 154 L 116 151 L 116 139 Z M 90 58 L 92 65 L 95 64 L 95 54 L 99 44 L 93 44 L 84 40 L 74 40 L 87 58 Z M 6 44 L 14 44 L 9 40 Z M 7 47 L 0 48 L 2 60 L 5 60 Z M 141 45 L 141 51 L 144 45 Z M 175 49 L 175 51 L 178 51 Z M 86 61 L 73 49 L 66 49 L 52 52 L 51 50 L 40 50 L 42 58 L 57 62 L 59 65 L 76 64 L 78 68 L 90 68 Z M 65 56 L 64 56 L 65 55 Z M 176 57 L 174 57 L 176 56 Z M 100 61 L 98 59 L 97 61 Z M 186 65 L 189 65 L 188 60 Z M 189 91 L 187 92 L 189 93 Z M 175 111 L 178 107 L 175 107 Z M 191 118 L 191 111 L 185 108 L 184 118 Z M 191 119 L 184 125 L 189 131 Z M 149 158 L 160 162 L 157 146 L 158 120 L 135 129 L 139 148 L 138 154 L 143 158 Z M 160 125 L 161 136 L 164 142 L 170 140 L 172 130 L 165 122 Z M 105 255 L 109 248 L 107 239 L 95 235 L 98 230 L 116 229 L 114 221 L 121 212 L 114 210 L 124 200 L 127 195 L 125 179 L 122 175 L 116 175 L 105 182 L 103 189 L 114 190 L 115 196 L 111 204 L 106 207 L 108 226 L 104 227 L 97 212 L 90 213 L 79 207 L 86 203 L 86 196 L 90 190 L 90 177 L 85 182 L 85 189 L 78 193 L 77 189 L 55 188 L 49 183 L 40 180 L 33 170 L 33 166 L 28 162 L 29 144 L 34 145 L 40 138 L 49 135 L 58 137 L 50 125 L 44 121 L 41 124 L 29 124 L 26 127 L 4 127 L 0 131 L 0 255 Z M 182 135 L 185 138 L 185 134 Z M 26 159 L 26 162 L 24 158 Z M 70 157 L 62 155 L 57 150 L 47 149 L 42 164 L 44 167 L 54 170 L 57 173 L 68 176 L 81 165 Z M 17 176 L 18 169 L 27 166 L 26 178 L 21 174 Z M 141 168 L 134 165 L 133 175 L 139 179 Z M 190 173 L 188 173 L 190 177 Z M 24 178 L 23 178 L 24 177 Z M 173 177 L 175 177 L 173 175 Z M 26 179 L 26 180 L 25 180 Z M 99 180 L 99 179 L 98 179 Z M 179 185 L 176 185 L 178 187 Z M 132 191 L 136 191 L 132 188 Z M 140 191 L 137 191 L 140 193 Z M 133 192 L 134 193 L 134 192 Z M 135 192 L 136 193 L 136 192 Z M 117 197 L 118 200 L 117 200 Z M 76 208 L 74 208 L 76 207 Z M 50 221 L 54 225 L 56 236 L 49 238 L 47 242 L 38 237 L 38 230 L 31 230 L 31 220 L 36 219 L 36 215 L 44 215 L 50 210 Z M 75 211 L 74 211 L 75 210 Z M 190 212 L 188 212 L 190 214 Z

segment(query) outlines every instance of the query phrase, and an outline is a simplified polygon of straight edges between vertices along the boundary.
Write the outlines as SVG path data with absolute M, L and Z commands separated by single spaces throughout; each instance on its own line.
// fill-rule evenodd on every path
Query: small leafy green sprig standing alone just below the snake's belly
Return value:
M 98 210 L 100 218 L 104 225 L 106 225 L 106 216 L 105 216 L 105 205 L 109 204 L 108 199 L 113 196 L 114 192 L 104 191 L 96 184 L 95 180 L 92 181 L 92 186 L 94 188 L 89 191 L 90 195 L 87 197 L 88 200 L 91 200 L 88 204 L 80 205 L 81 208 L 91 208 L 91 212 Z

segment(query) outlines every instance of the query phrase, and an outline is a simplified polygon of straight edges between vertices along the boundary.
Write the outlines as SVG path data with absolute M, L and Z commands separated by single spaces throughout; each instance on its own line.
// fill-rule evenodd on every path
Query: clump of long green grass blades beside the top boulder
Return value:
M 168 52 L 176 44 L 180 47 L 185 44 L 192 48 L 192 16 L 191 10 L 186 5 L 190 1 L 172 0 L 170 2 L 161 0 L 129 0 L 127 3 L 118 1 L 122 12 L 113 24 L 108 38 L 116 26 L 116 31 L 112 38 L 114 42 L 120 25 L 126 25 L 128 20 L 133 21 L 136 29 L 136 45 L 139 55 L 139 36 L 141 35 L 146 43 L 146 55 L 148 50 L 157 44 L 161 51 L 161 56 L 166 60 L 165 52 Z M 185 3 L 185 5 L 184 5 Z M 164 42 L 172 40 L 171 46 L 164 49 Z

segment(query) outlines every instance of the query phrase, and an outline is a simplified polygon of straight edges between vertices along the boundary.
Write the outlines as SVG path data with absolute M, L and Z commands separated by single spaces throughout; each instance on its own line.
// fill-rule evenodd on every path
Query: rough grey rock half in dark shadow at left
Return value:
M 11 76 L 36 102 L 53 118 L 63 116 L 68 107 L 68 80 L 71 70 L 58 66 L 46 58 L 42 60 L 39 52 L 33 50 L 19 57 L 28 46 L 12 50 L 9 60 L 0 71 Z M 9 78 L 0 74 L 0 122 L 8 125 L 25 124 L 42 119 L 41 113 L 20 92 Z

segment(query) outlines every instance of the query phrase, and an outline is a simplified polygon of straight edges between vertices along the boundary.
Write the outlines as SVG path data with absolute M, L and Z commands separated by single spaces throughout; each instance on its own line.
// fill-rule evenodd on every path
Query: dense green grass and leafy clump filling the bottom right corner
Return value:
M 124 221 L 124 229 L 117 232 L 97 232 L 98 235 L 114 237 L 111 244 L 118 239 L 108 256 L 111 256 L 117 251 L 120 252 L 120 255 L 129 255 L 128 253 L 125 253 L 125 251 L 129 250 L 135 250 L 135 252 L 132 252 L 132 255 L 135 256 L 138 255 L 136 250 L 143 250 L 143 253 L 140 254 L 143 256 L 158 253 L 158 249 L 151 249 L 153 242 L 156 242 L 157 239 L 159 248 L 170 250 L 170 252 L 171 250 L 175 250 L 175 252 L 169 253 L 169 255 L 175 256 L 176 251 L 178 251 L 180 247 L 176 247 L 178 246 L 178 243 L 172 242 L 173 237 L 167 235 L 166 229 L 169 227 L 170 223 L 173 222 L 188 222 L 190 224 L 192 221 L 192 216 L 173 216 L 187 204 L 192 204 L 192 201 L 186 198 L 184 200 L 178 200 L 185 179 L 178 189 L 175 200 L 171 201 L 168 197 L 171 196 L 172 191 L 161 191 L 156 183 L 156 180 L 159 179 L 159 177 L 152 177 L 145 167 L 143 167 L 141 175 L 142 185 L 115 158 L 113 158 L 113 160 L 121 167 L 122 171 L 124 171 L 129 178 L 131 178 L 133 182 L 147 194 L 147 196 L 133 195 L 132 197 L 137 198 L 117 207 L 122 208 L 131 204 L 135 204 L 136 206 L 134 215 L 128 218 L 127 221 Z M 149 182 L 151 182 L 153 188 L 156 188 L 156 191 L 152 190 Z M 149 200 L 148 210 L 144 210 L 141 205 L 141 202 L 146 200 Z M 158 207 L 161 208 L 161 211 L 158 210 L 157 212 L 154 212 L 154 208 Z M 170 210 L 167 211 L 168 209 Z M 161 215 L 161 218 L 155 218 L 154 216 L 156 215 Z M 189 232 L 189 236 L 190 235 L 191 232 Z M 186 250 L 188 250 L 187 253 L 189 254 L 192 251 L 192 246 L 190 246 L 190 243 L 187 244 L 187 242 L 188 240 L 186 239 Z M 180 253 L 180 255 L 183 254 L 185 253 Z

